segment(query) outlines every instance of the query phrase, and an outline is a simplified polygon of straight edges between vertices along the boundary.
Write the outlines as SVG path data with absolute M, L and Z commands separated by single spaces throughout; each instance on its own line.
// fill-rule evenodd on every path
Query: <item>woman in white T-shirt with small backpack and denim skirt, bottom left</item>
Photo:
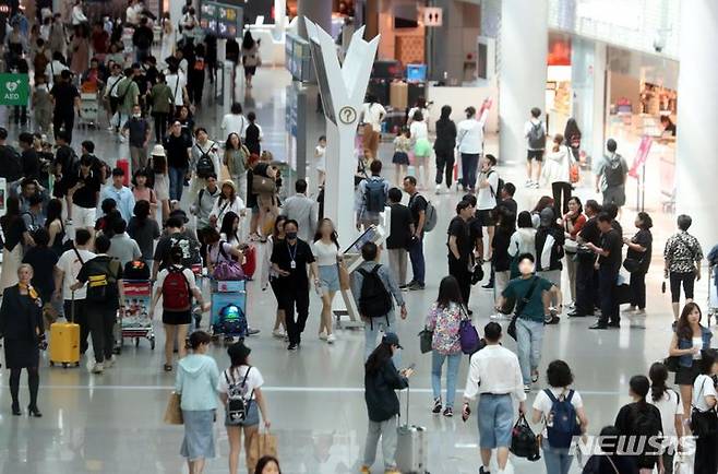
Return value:
M 242 431 L 244 432 L 244 455 L 247 472 L 254 472 L 250 464 L 255 460 L 250 458 L 249 440 L 259 431 L 260 412 L 264 419 L 264 428 L 270 429 L 266 401 L 262 393 L 264 378 L 256 367 L 249 364 L 252 352 L 243 342 L 232 344 L 227 348 L 231 365 L 219 376 L 217 392 L 225 405 L 225 427 L 229 438 L 229 474 L 237 474 L 239 453 L 242 449 Z

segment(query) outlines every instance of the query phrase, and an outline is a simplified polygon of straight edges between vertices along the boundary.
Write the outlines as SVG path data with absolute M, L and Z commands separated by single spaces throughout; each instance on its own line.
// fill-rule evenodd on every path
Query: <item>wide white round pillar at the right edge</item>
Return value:
M 718 244 L 718 2 L 681 2 L 675 210 L 693 217 L 704 253 Z

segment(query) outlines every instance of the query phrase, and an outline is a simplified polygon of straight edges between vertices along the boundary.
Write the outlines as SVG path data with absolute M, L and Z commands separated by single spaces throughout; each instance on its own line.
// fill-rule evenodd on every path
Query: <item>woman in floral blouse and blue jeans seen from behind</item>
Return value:
M 439 284 L 439 296 L 431 305 L 424 327 L 432 331 L 431 337 L 431 387 L 434 394 L 434 415 L 441 413 L 441 369 L 446 362 L 446 405 L 444 416 L 454 416 L 456 377 L 462 364 L 462 343 L 458 329 L 468 318 L 464 299 L 454 276 L 444 276 Z

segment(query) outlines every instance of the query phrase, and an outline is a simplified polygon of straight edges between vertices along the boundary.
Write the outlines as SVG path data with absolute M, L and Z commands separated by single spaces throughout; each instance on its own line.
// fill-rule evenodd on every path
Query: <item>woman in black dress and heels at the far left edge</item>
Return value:
M 17 268 L 17 284 L 5 288 L 0 306 L 0 334 L 4 336 L 5 366 L 10 369 L 10 395 L 12 414 L 20 416 L 20 375 L 27 370 L 29 387 L 31 416 L 43 416 L 37 407 L 37 392 L 40 377 L 37 371 L 40 362 L 39 347 L 45 343 L 43 324 L 43 301 L 31 285 L 33 268 L 21 264 Z

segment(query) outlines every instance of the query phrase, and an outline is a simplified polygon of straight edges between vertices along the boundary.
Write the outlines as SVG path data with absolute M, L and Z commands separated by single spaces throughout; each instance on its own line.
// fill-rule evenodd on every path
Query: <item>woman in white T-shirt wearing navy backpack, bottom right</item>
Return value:
M 553 360 L 549 364 L 546 370 L 546 378 L 549 382 L 549 388 L 541 390 L 534 400 L 534 414 L 531 416 L 534 423 L 543 423 L 543 462 L 546 463 L 546 472 L 551 474 L 569 474 L 573 455 L 570 454 L 571 442 L 569 446 L 555 446 L 564 443 L 564 431 L 560 431 L 558 426 L 554 425 L 554 404 L 561 402 L 570 402 L 573 406 L 576 417 L 578 418 L 577 425 L 562 423 L 563 428 L 572 428 L 573 434 L 569 436 L 578 436 L 586 434 L 588 426 L 588 418 L 584 411 L 584 402 L 581 394 L 572 390 L 570 387 L 573 383 L 573 374 L 569 364 L 563 360 Z M 575 420 L 574 420 L 575 422 Z M 557 428 L 555 431 L 553 428 Z M 569 441 L 571 438 L 567 438 Z M 554 446 L 551 445 L 553 442 Z

